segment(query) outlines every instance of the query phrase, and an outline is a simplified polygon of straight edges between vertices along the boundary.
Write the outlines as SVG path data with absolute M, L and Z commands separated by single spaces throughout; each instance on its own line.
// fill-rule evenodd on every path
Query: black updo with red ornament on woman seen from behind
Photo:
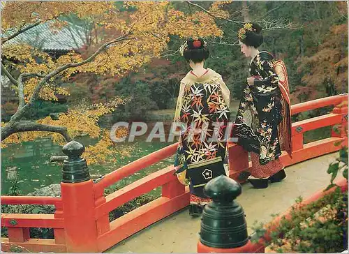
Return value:
M 186 61 L 200 63 L 209 57 L 207 41 L 203 38 L 188 38 L 184 45 L 181 45 L 179 52 Z

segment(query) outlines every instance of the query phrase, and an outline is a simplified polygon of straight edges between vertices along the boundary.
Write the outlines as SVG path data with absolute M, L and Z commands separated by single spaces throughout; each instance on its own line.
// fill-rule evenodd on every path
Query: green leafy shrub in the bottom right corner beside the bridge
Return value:
M 327 173 L 332 174 L 332 178 L 327 189 L 336 186 L 333 181 L 341 170 L 348 179 L 346 147 L 328 167 Z M 270 235 L 271 240 L 265 239 L 265 246 L 278 253 L 340 253 L 348 248 L 348 193 L 336 188 L 333 193 L 306 206 L 302 206 L 302 201 L 302 197 L 297 197 L 296 203 L 301 207 L 292 207 L 290 218 L 281 218 L 279 227 Z M 265 234 L 264 225 L 255 222 L 252 228 L 255 232 L 251 241 L 258 242 Z

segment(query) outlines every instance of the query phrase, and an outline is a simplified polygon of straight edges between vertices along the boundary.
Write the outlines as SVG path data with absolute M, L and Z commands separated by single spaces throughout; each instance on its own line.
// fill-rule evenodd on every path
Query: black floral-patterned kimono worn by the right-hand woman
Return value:
M 278 124 L 282 120 L 283 108 L 279 77 L 272 60 L 271 54 L 260 52 L 251 61 L 254 84 L 244 87 L 233 132 L 233 136 L 239 139 L 237 144 L 260 155 L 261 165 L 281 155 Z

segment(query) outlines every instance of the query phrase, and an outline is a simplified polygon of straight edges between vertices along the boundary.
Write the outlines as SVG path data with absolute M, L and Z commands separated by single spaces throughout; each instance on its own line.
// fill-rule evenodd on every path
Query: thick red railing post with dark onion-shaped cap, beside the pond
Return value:
M 68 156 L 61 182 L 66 251 L 98 252 L 94 183 L 86 160 L 80 157 L 84 146 L 71 141 L 63 147 L 63 152 Z

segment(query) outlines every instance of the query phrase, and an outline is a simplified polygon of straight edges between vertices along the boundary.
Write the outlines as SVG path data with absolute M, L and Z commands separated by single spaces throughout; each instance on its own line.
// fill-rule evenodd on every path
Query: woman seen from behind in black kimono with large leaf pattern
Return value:
M 190 185 L 191 215 L 200 214 L 202 207 L 211 201 L 203 191 L 207 182 L 221 174 L 227 175 L 225 140 L 229 135 L 230 117 L 230 91 L 221 75 L 203 68 L 203 61 L 194 63 L 190 57 L 200 55 L 200 47 L 195 46 L 204 43 L 195 41 L 187 41 L 186 50 L 193 70 L 181 80 L 174 114 L 174 121 L 184 125 L 174 166 L 179 181 Z M 202 70 L 202 73 L 195 74 L 195 70 Z

